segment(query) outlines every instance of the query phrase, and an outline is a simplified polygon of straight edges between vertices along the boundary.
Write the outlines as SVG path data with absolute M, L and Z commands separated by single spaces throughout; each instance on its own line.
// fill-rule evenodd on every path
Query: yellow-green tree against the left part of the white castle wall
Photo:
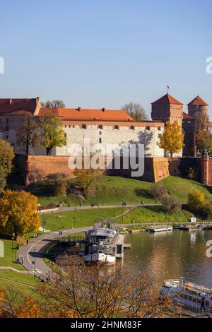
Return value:
M 53 114 L 47 114 L 40 118 L 40 132 L 42 145 L 45 146 L 47 155 L 51 155 L 52 148 L 66 144 L 61 119 L 55 117 Z

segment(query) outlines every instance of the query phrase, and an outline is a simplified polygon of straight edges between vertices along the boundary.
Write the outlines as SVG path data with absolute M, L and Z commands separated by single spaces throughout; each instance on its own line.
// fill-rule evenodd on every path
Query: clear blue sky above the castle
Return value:
M 149 112 L 168 84 L 212 109 L 211 12 L 211 0 L 1 1 L 0 97 Z

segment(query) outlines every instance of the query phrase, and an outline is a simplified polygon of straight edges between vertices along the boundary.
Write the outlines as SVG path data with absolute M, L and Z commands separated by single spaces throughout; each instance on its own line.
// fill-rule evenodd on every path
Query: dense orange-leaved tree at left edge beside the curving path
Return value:
M 4 234 L 24 235 L 37 232 L 40 216 L 37 214 L 37 197 L 26 191 L 4 191 L 0 197 L 0 230 Z

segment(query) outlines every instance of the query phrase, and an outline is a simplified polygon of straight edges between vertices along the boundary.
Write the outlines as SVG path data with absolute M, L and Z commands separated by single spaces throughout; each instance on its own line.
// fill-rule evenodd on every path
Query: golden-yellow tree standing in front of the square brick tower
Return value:
M 184 146 L 184 134 L 182 134 L 181 126 L 177 124 L 177 121 L 175 121 L 173 124 L 167 122 L 163 134 L 159 134 L 158 138 L 158 146 L 164 150 L 169 151 L 171 158 L 174 153 L 179 153 L 179 151 Z

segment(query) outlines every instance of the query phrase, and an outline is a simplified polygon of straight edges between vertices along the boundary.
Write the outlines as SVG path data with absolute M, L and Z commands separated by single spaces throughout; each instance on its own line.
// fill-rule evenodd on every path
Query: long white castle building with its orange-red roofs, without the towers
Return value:
M 0 100 L 0 138 L 9 141 L 15 153 L 24 154 L 25 147 L 18 139 L 18 131 L 25 117 L 44 116 L 49 109 L 42 108 L 39 98 L 23 100 Z M 72 144 L 83 147 L 84 140 L 90 146 L 129 145 L 140 143 L 145 146 L 145 156 L 163 158 L 164 150 L 158 146 L 158 134 L 163 133 L 163 121 L 135 121 L 124 110 L 83 109 L 78 107 L 51 109 L 63 124 L 66 145 L 54 148 L 52 155 L 71 155 Z M 45 148 L 30 146 L 30 155 L 45 155 Z

